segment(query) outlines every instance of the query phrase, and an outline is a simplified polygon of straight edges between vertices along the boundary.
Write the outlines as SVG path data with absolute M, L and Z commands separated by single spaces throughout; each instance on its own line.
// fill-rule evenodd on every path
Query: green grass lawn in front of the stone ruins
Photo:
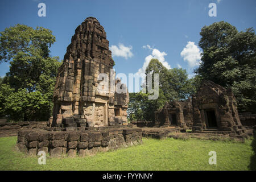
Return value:
M 47 156 L 46 165 L 39 165 L 39 156 L 28 157 L 15 150 L 16 137 L 3 137 L 0 170 L 250 170 L 256 162 L 252 142 L 143 138 L 139 146 L 83 158 Z M 212 150 L 217 152 L 217 165 L 208 163 Z

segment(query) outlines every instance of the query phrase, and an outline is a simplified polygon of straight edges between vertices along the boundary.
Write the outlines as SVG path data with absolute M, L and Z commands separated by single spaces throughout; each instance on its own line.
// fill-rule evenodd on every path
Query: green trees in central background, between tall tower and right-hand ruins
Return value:
M 158 59 L 151 59 L 145 74 L 159 74 L 159 96 L 156 100 L 148 100 L 148 93 L 129 93 L 128 115 L 130 120 L 155 120 L 155 111 L 162 108 L 167 101 L 185 100 L 196 92 L 198 80 L 188 79 L 185 69 L 167 69 Z M 154 87 L 154 81 L 152 81 Z

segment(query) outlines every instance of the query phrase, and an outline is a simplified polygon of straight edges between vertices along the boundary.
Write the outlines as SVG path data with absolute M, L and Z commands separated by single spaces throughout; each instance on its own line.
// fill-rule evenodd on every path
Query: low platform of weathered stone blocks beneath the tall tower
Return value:
M 20 130 L 16 146 L 28 155 L 45 151 L 50 156 L 84 156 L 140 143 L 142 130 L 132 128 L 102 131 Z

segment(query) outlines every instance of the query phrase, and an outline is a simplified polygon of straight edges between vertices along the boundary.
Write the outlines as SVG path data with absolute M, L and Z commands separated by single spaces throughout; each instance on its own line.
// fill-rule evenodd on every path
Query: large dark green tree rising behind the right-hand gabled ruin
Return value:
M 238 111 L 255 112 L 256 36 L 253 28 L 238 32 L 226 22 L 204 26 L 199 46 L 203 49 L 199 76 L 225 88 L 231 87 Z

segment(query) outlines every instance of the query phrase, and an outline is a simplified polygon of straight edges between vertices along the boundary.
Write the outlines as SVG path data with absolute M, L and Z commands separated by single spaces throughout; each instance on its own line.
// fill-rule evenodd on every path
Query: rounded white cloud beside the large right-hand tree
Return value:
M 200 65 L 200 49 L 195 45 L 195 42 L 188 42 L 187 46 L 181 51 L 180 55 L 184 61 L 188 62 L 190 68 Z

